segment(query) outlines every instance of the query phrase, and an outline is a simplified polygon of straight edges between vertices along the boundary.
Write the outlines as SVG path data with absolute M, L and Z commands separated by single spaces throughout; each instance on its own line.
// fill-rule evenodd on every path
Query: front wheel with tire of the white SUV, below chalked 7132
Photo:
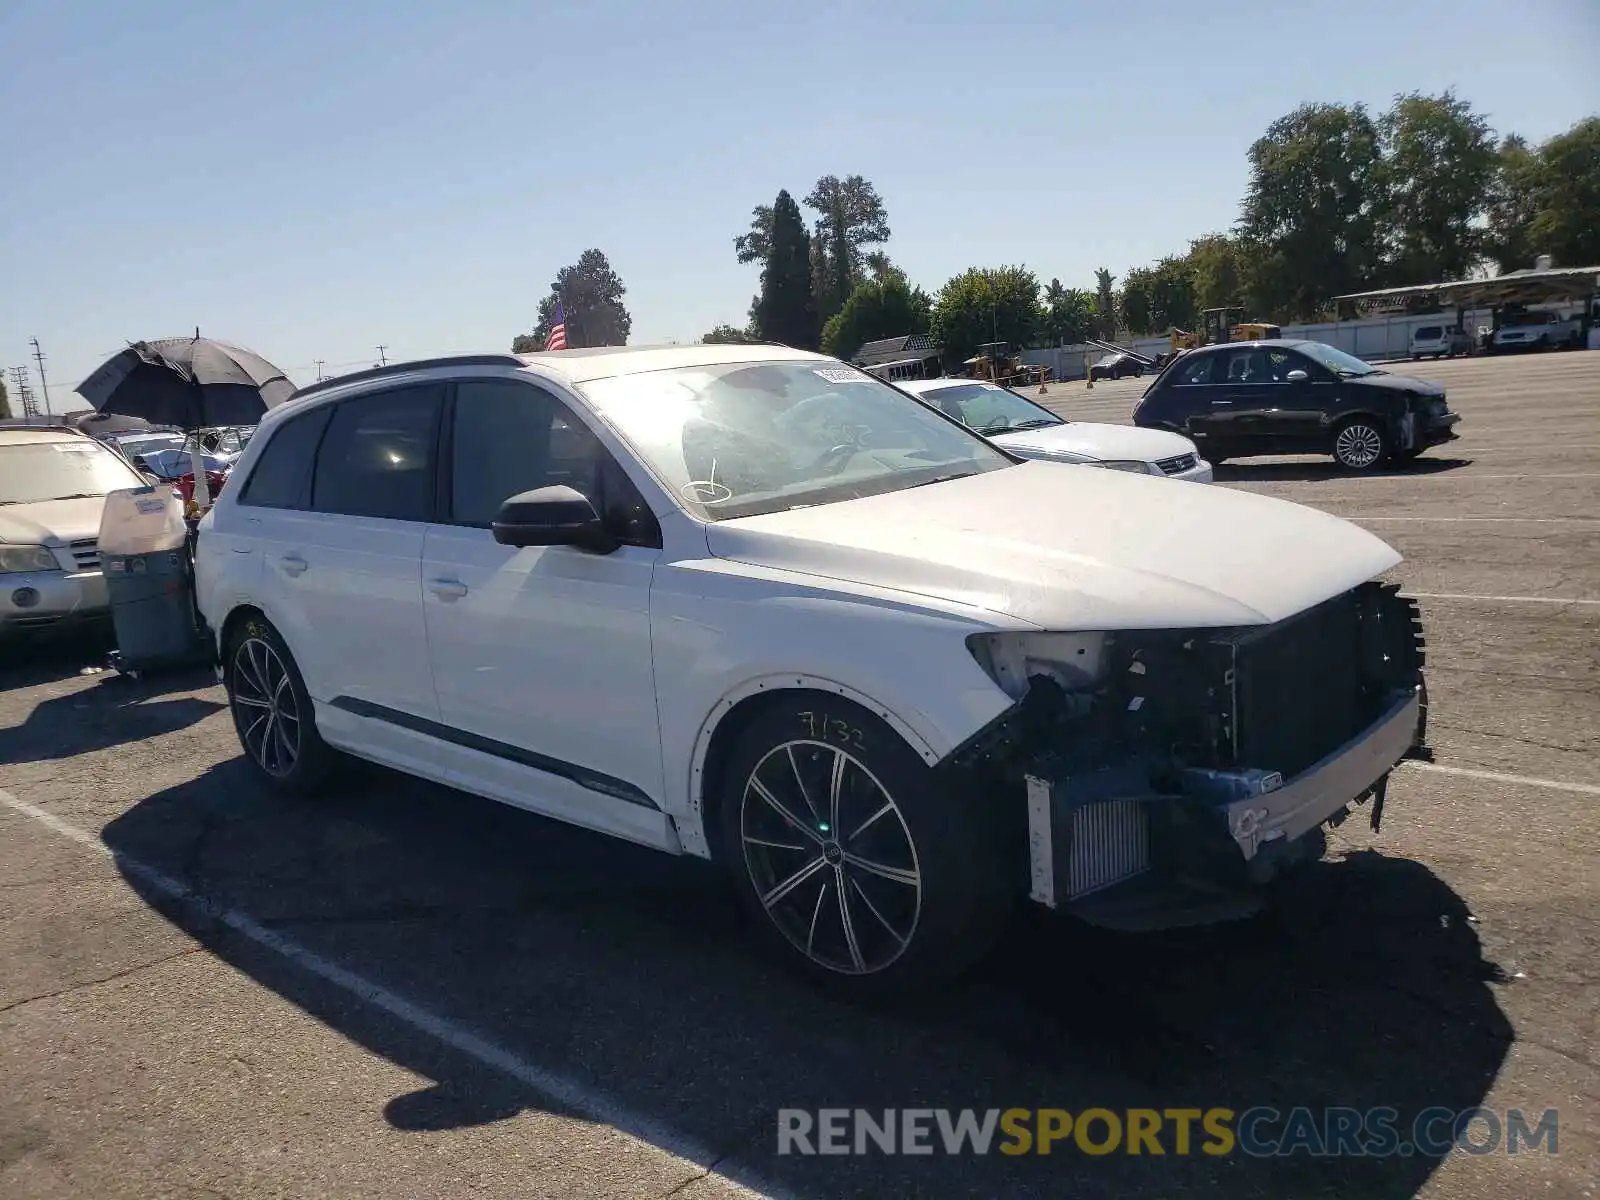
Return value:
M 722 858 L 786 963 L 848 998 L 954 978 L 1010 912 L 998 824 L 878 717 L 782 698 L 722 773 Z

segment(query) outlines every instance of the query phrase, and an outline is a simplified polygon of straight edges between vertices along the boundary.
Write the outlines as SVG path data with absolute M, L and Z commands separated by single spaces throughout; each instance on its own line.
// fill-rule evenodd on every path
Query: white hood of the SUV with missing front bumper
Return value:
M 707 526 L 722 558 L 1051 630 L 1282 621 L 1400 562 L 1365 530 L 1230 488 L 1022 462 Z

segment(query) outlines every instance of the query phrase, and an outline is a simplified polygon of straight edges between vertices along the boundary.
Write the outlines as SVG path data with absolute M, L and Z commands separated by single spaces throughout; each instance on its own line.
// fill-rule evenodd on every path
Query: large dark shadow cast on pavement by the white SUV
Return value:
M 1189 1154 L 1163 1134 L 1160 1157 L 1070 1139 L 1050 1157 L 779 1157 L 776 1114 L 1387 1106 L 1406 1133 L 1421 1109 L 1478 1106 L 1512 1040 L 1461 898 L 1376 853 L 1307 867 L 1269 915 L 1210 930 L 1122 936 L 1029 910 L 970 979 L 864 1010 L 762 957 L 706 864 L 379 768 L 285 800 L 230 760 L 136 803 L 104 840 L 218 957 L 432 1080 L 386 1101 L 392 1126 L 563 1109 L 352 986 L 605 1094 L 643 1136 L 704 1147 L 704 1165 L 802 1195 L 1413 1195 L 1437 1158 L 1216 1157 L 1198 1133 Z M 149 869 L 203 902 L 171 899 Z M 365 982 L 333 987 L 240 936 L 229 910 Z

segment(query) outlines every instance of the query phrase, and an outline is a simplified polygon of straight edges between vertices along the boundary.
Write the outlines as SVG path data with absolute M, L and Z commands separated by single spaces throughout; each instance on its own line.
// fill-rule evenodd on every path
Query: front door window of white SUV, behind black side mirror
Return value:
M 661 546 L 661 530 L 610 451 L 549 392 L 509 379 L 456 384 L 450 515 L 488 526 L 509 498 L 565 485 L 626 542 Z

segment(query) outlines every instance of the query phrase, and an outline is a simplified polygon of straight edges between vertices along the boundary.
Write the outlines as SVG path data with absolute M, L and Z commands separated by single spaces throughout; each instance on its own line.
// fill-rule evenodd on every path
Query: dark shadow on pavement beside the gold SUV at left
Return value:
M 34 683 L 53 678 L 61 678 L 61 672 L 37 678 Z M 187 728 L 227 707 L 216 699 L 192 694 L 162 699 L 173 691 L 192 693 L 205 688 L 213 682 L 208 669 L 149 674 L 138 680 L 102 670 L 94 672 L 94 686 L 40 701 L 29 710 L 22 725 L 0 728 L 0 763 L 70 758 L 112 746 L 126 746 Z M 0 680 L 6 688 L 27 686 L 26 674 L 6 670 Z

